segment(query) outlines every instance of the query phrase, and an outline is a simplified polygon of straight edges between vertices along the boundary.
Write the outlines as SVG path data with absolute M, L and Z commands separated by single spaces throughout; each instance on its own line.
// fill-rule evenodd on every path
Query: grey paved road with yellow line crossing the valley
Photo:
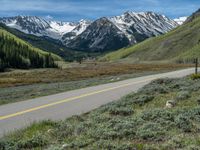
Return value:
M 152 80 L 183 77 L 193 72 L 194 69 L 185 69 L 149 75 L 0 106 L 0 137 L 36 121 L 60 120 L 91 111 L 137 91 Z

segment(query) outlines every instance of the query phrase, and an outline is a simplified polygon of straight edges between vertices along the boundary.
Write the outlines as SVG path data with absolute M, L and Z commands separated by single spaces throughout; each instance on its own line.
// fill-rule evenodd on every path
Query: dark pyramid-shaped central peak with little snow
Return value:
M 126 35 L 108 18 L 100 18 L 90 24 L 80 35 L 67 43 L 79 50 L 103 51 L 118 49 L 129 44 Z

